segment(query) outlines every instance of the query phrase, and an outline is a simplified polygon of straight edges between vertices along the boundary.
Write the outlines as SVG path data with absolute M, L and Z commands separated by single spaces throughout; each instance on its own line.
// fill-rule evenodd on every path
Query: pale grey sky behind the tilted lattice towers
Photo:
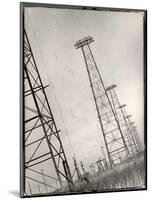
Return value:
M 26 8 L 25 28 L 42 80 L 50 84 L 47 95 L 71 168 L 74 153 L 88 169 L 104 145 L 83 55 L 74 48 L 82 37 L 94 37 L 91 49 L 105 86 L 118 86 L 143 140 L 142 13 Z

